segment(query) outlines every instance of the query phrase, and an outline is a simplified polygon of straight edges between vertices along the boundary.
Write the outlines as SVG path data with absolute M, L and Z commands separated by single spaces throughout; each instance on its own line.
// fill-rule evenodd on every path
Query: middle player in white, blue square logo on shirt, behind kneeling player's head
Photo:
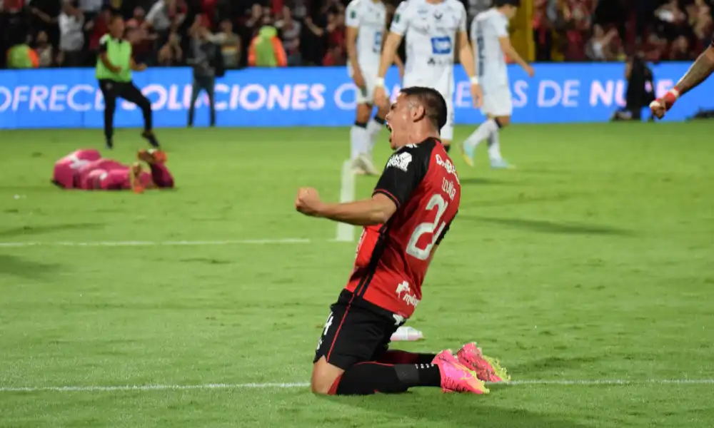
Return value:
M 406 69 L 403 87 L 426 86 L 441 93 L 447 103 L 448 120 L 441 128 L 441 142 L 448 151 L 453 139 L 453 59 L 458 59 L 471 79 L 473 105 L 481 106 L 481 86 L 475 76 L 473 51 L 466 34 L 466 9 L 459 0 L 404 0 L 399 4 L 384 42 L 374 99 L 386 104 L 384 76 L 402 37 L 406 37 Z

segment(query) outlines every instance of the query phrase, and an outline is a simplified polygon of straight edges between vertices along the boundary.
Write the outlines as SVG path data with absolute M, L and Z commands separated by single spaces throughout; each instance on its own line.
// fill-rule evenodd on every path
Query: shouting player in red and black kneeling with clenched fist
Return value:
M 506 380 L 475 344 L 453 355 L 388 350 L 390 337 L 421 300 L 429 263 L 458 211 L 461 185 L 439 130 L 446 101 L 432 88 L 404 88 L 386 120 L 396 150 L 372 198 L 323 203 L 301 188 L 296 209 L 314 217 L 364 226 L 355 267 L 318 342 L 311 387 L 317 394 L 366 395 L 441 387 L 488 392 L 484 381 Z

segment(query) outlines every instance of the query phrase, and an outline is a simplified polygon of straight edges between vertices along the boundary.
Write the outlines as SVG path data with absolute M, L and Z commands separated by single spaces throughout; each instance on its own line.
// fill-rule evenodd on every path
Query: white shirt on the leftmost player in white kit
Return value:
M 386 17 L 381 1 L 352 0 L 345 11 L 345 25 L 357 29 L 357 62 L 365 78 L 377 76 Z

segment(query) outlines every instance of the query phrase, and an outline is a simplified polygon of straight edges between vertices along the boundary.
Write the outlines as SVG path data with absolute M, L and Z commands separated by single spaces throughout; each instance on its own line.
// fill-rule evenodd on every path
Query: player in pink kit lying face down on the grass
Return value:
M 144 171 L 141 163 L 124 165 L 101 157 L 96 150 L 78 150 L 54 164 L 52 182 L 66 189 L 134 190 L 173 188 L 174 177 L 166 168 L 166 153 L 151 149 L 141 150 L 137 158 L 149 165 Z

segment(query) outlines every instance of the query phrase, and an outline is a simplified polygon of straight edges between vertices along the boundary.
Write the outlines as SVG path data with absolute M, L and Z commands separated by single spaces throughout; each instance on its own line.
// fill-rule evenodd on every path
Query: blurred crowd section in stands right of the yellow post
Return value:
M 536 61 L 689 61 L 711 41 L 710 0 L 533 0 Z

